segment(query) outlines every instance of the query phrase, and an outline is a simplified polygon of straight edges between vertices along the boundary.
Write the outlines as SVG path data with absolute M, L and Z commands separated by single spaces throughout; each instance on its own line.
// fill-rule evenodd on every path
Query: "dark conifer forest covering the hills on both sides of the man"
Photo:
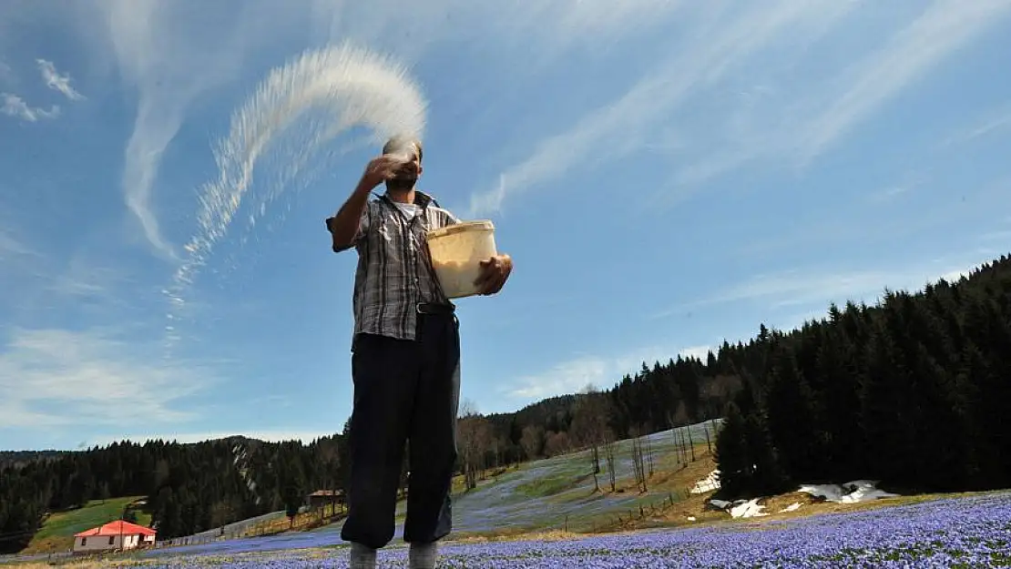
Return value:
M 726 416 L 717 453 L 725 497 L 774 494 L 802 480 L 1008 486 L 1009 322 L 1004 257 L 956 283 L 888 292 L 881 306 L 833 305 L 827 318 L 791 333 L 759 325 L 754 339 L 724 342 L 703 360 L 643 362 L 610 389 L 514 413 L 467 409 L 459 472 L 479 491 L 483 471 Z M 346 433 L 347 424 L 309 444 L 235 437 L 20 456 L 0 466 L 0 553 L 26 546 L 47 511 L 103 495 L 146 496 L 160 538 L 292 510 L 312 490 L 344 487 Z

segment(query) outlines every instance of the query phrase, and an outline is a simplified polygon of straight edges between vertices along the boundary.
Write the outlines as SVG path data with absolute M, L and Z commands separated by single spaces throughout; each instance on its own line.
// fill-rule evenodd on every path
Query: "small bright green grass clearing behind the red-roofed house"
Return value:
M 22 553 L 67 551 L 74 544 L 74 534 L 119 519 L 127 505 L 143 498 L 144 496 L 130 496 L 104 501 L 91 500 L 88 505 L 78 509 L 53 512 Z M 151 525 L 150 513 L 141 510 L 136 513 L 137 524 Z

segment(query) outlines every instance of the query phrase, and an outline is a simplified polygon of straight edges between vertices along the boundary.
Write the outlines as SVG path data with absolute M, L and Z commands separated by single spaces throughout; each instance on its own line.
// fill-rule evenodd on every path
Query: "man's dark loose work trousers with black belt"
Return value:
M 452 526 L 460 396 L 459 321 L 419 314 L 415 341 L 359 335 L 354 341 L 354 408 L 346 542 L 381 548 L 393 538 L 396 490 L 409 439 L 403 540 L 427 544 Z

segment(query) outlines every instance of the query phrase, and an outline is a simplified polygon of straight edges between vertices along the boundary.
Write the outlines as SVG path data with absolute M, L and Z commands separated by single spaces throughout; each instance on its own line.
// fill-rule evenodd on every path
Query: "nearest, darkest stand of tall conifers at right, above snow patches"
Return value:
M 906 491 L 1011 486 L 1011 258 L 956 283 L 761 327 L 717 442 L 721 497 L 878 479 Z

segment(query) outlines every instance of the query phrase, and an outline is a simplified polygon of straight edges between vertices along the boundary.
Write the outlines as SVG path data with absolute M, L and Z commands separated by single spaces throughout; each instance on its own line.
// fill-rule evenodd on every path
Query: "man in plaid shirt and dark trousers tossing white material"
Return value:
M 372 160 L 358 187 L 327 219 L 333 250 L 358 251 L 352 346 L 354 407 L 349 447 L 351 567 L 375 567 L 376 550 L 393 538 L 396 490 L 409 441 L 409 566 L 435 567 L 436 542 L 450 532 L 450 485 L 456 462 L 460 339 L 454 305 L 432 268 L 426 232 L 459 222 L 415 188 L 422 145 L 394 137 Z M 369 200 L 386 183 L 385 194 Z M 513 270 L 508 255 L 481 263 L 482 294 L 498 292 Z

